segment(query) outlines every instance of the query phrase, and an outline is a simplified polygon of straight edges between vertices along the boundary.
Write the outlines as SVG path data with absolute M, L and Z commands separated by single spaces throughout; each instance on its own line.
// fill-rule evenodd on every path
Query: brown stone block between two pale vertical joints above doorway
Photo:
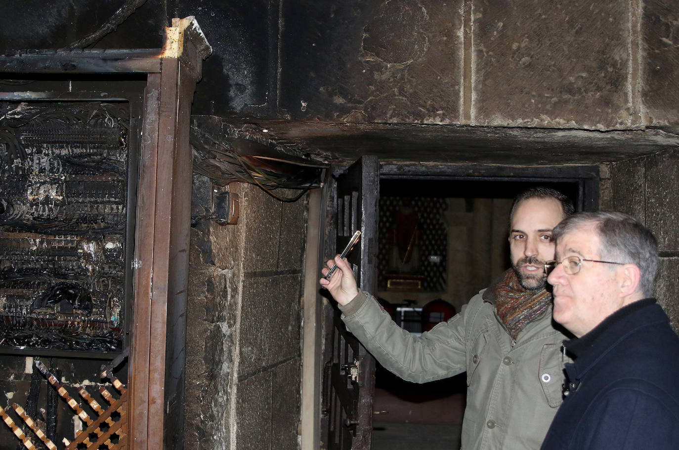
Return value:
M 471 2 L 475 124 L 632 125 L 630 1 Z

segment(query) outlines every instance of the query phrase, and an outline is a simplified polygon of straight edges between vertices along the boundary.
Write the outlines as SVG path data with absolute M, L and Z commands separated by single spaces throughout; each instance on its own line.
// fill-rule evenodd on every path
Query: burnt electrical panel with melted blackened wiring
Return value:
M 130 106 L 0 101 L 0 350 L 125 345 Z

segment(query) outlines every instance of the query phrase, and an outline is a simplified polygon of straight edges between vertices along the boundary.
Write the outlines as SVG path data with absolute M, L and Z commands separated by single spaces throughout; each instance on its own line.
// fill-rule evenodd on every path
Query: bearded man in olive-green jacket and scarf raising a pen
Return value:
M 420 337 L 359 292 L 338 256 L 328 261 L 337 273 L 320 284 L 339 303 L 347 328 L 396 375 L 426 383 L 466 371 L 462 449 L 539 449 L 562 403 L 567 339 L 551 319 L 544 263 L 554 257 L 551 230 L 571 212 L 568 199 L 552 189 L 519 195 L 510 217 L 512 268 Z

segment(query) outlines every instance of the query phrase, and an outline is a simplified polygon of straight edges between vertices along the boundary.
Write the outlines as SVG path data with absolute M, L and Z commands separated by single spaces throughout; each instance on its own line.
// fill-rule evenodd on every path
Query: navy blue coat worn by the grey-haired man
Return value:
M 679 449 L 679 337 L 655 299 L 564 346 L 570 383 L 543 450 Z

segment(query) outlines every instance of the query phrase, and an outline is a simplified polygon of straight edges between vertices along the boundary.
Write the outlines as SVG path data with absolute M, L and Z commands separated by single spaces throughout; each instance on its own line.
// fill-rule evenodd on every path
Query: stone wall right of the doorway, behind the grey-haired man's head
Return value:
M 658 240 L 655 297 L 679 333 L 679 150 L 602 166 L 600 208 L 638 218 Z

